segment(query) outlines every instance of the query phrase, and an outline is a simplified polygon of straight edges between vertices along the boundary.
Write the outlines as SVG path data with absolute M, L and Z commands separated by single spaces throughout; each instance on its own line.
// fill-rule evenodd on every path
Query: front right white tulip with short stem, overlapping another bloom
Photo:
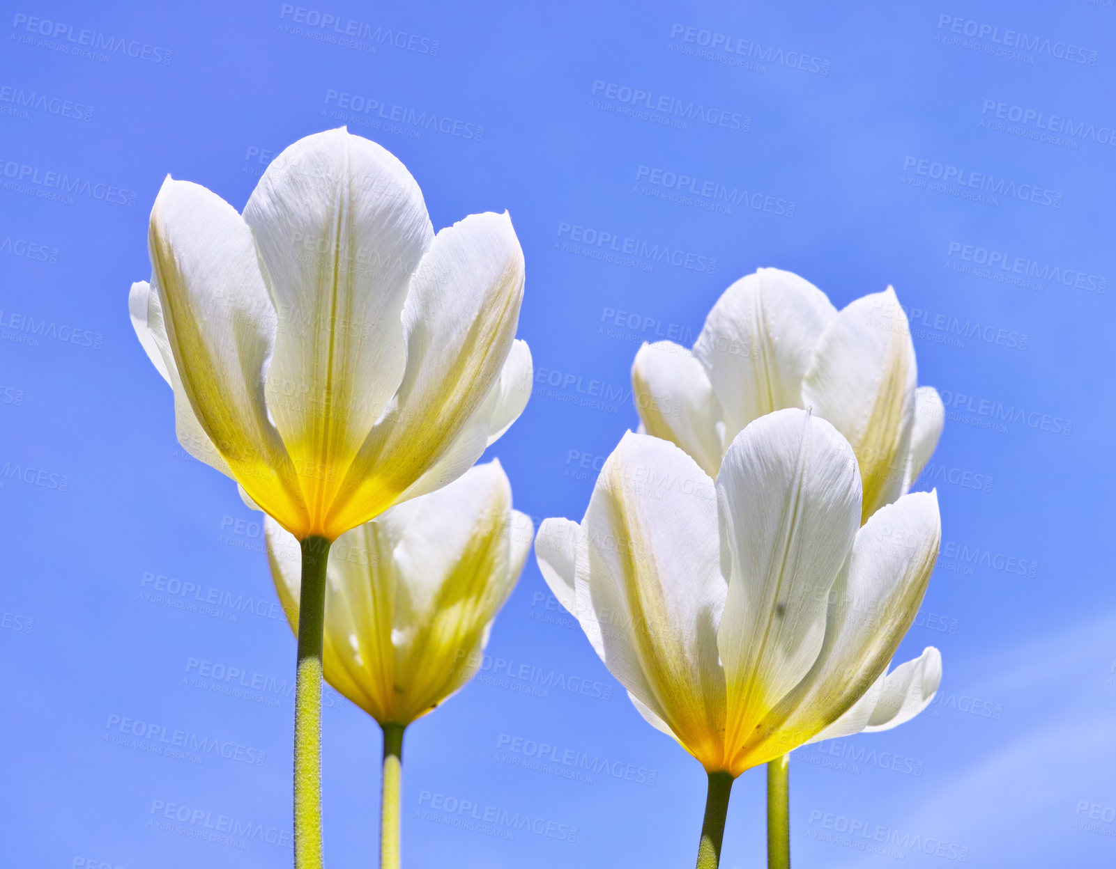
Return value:
M 715 481 L 686 452 L 624 436 L 585 518 L 546 519 L 555 596 L 654 728 L 709 774 L 699 867 L 715 867 L 732 782 L 815 739 L 924 709 L 937 651 L 887 665 L 937 558 L 935 492 L 862 527 L 853 447 L 809 411 L 749 423 Z

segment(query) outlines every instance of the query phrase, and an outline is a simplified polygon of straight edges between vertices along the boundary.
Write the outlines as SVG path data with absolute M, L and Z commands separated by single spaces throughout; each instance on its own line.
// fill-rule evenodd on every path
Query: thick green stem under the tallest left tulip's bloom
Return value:
M 321 643 L 329 544 L 325 537 L 302 540 L 295 677 L 296 869 L 321 869 Z

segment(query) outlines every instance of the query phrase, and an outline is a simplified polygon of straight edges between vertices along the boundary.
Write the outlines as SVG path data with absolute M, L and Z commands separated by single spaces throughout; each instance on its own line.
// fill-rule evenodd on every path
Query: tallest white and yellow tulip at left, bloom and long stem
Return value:
M 318 867 L 329 545 L 459 477 L 522 411 L 522 252 L 507 214 L 435 235 L 403 164 L 344 128 L 283 150 L 243 214 L 167 177 L 147 241 L 128 309 L 179 440 L 301 545 L 295 853 Z

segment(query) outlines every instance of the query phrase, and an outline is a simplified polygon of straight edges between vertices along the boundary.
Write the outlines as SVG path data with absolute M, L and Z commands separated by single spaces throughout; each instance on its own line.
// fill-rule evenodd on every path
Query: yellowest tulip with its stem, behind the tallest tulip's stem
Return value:
M 271 575 L 297 635 L 299 547 L 275 520 L 266 527 Z M 384 732 L 385 869 L 400 865 L 403 732 L 475 674 L 532 536 L 491 461 L 337 539 L 326 568 L 325 677 Z

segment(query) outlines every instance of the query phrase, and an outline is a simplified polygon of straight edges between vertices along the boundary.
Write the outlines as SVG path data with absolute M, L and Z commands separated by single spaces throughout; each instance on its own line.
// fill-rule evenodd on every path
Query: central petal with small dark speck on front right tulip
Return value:
M 829 588 L 860 520 L 860 478 L 844 438 L 780 410 L 737 436 L 716 478 L 729 595 L 718 634 L 732 745 L 809 672 Z

